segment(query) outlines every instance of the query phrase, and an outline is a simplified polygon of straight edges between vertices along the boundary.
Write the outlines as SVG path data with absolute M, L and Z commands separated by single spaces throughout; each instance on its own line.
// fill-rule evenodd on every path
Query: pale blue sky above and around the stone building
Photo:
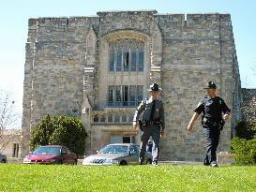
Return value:
M 12 94 L 23 111 L 23 68 L 28 19 L 91 16 L 104 10 L 147 10 L 158 13 L 230 13 L 243 87 L 256 88 L 255 0 L 2 0 L 0 4 L 0 90 Z M 255 67 L 256 68 L 256 67 Z

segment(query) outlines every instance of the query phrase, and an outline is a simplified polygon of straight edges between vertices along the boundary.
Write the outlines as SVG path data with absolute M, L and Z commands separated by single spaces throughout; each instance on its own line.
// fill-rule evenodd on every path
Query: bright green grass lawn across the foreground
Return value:
M 0 164 L 0 191 L 256 191 L 256 167 Z

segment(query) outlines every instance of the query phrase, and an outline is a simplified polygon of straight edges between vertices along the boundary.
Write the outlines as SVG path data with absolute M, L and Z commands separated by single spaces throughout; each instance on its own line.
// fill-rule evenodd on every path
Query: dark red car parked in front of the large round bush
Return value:
M 77 164 L 77 155 L 63 145 L 39 146 L 23 159 L 24 164 Z

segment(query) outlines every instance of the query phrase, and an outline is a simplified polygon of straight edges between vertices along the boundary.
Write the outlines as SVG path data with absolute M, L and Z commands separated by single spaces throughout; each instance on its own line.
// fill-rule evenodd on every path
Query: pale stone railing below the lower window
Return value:
M 93 124 L 131 124 L 134 108 L 105 108 L 104 111 L 93 111 Z

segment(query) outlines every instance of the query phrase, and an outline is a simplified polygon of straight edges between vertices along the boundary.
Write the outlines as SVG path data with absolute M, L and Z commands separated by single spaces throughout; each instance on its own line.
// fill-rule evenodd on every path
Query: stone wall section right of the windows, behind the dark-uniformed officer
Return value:
M 230 15 L 157 15 L 163 36 L 162 86 L 167 116 L 162 141 L 165 159 L 202 160 L 203 128 L 199 122 L 193 134 L 186 127 L 201 97 L 203 85 L 215 81 L 218 96 L 233 108 L 232 94 L 240 86 L 234 78 L 234 44 Z M 237 86 L 237 87 L 236 87 Z M 229 150 L 231 122 L 221 133 L 218 150 Z

